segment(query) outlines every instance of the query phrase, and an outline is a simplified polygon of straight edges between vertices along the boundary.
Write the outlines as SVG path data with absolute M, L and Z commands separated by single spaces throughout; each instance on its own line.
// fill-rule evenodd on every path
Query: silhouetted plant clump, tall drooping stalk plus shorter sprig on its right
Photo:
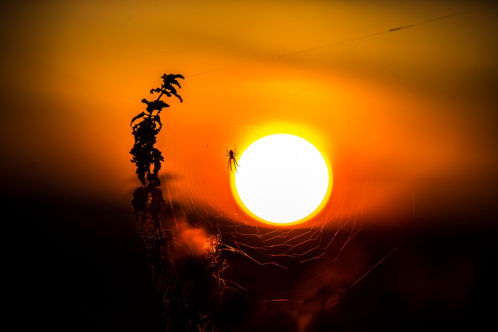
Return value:
M 206 240 L 205 257 L 196 256 L 187 243 L 178 240 L 171 229 L 163 228 L 161 224 L 159 215 L 166 202 L 160 189 L 159 171 L 164 157 L 155 144 L 156 135 L 162 128 L 159 114 L 169 107 L 161 98 L 175 96 L 182 102 L 176 87 L 180 88 L 178 79 L 183 76 L 164 74 L 161 79 L 161 87 L 150 90 L 151 94 L 159 94 L 157 98 L 153 101 L 142 99 L 145 111 L 133 117 L 130 123 L 135 140 L 130 150 L 131 162 L 136 165 L 136 175 L 141 183 L 133 192 L 131 205 L 138 232 L 148 249 L 152 287 L 163 296 L 166 330 L 216 332 L 223 292 L 229 288 L 247 292 L 220 276 L 228 266 L 222 251 L 236 251 L 224 245 L 220 235 Z M 178 264 L 182 266 L 180 270 Z M 186 265 L 198 271 L 189 271 Z

